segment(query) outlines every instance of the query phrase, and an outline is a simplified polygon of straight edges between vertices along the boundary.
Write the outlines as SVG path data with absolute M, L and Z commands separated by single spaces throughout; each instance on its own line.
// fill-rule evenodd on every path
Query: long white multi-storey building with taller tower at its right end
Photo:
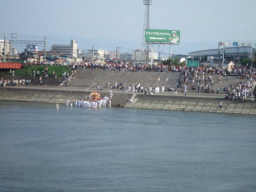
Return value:
M 68 57 L 77 57 L 77 42 L 75 39 L 70 41 L 70 45 L 65 44 L 54 44 L 52 46 L 53 52 L 61 53 L 67 55 Z

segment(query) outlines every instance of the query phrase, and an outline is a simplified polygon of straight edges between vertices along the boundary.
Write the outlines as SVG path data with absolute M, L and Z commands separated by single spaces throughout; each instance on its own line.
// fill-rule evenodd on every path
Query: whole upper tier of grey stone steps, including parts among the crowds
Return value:
M 176 87 L 176 82 L 178 78 L 180 77 L 180 72 L 148 72 L 148 71 L 128 71 L 128 70 L 103 70 L 103 69 L 81 69 L 77 70 L 76 75 L 74 79 L 71 79 L 68 82 L 69 87 L 82 87 L 82 88 L 97 88 L 97 85 L 100 84 L 100 86 L 103 87 L 103 90 L 107 88 L 108 82 L 111 83 L 111 85 L 114 87 L 115 82 L 117 84 L 123 83 L 124 86 L 131 86 L 138 85 L 140 83 L 140 86 L 143 86 L 144 88 L 152 86 L 154 88 L 155 86 L 159 86 L 160 89 L 162 86 L 165 87 L 165 91 L 167 90 L 167 87 Z M 200 74 L 202 76 L 202 74 Z M 0 75 L 0 78 L 4 79 L 30 79 L 32 82 L 32 76 L 11 76 L 11 75 Z M 205 74 L 205 77 L 207 78 L 207 74 Z M 218 74 L 212 74 L 212 77 L 214 79 L 214 84 L 211 86 L 211 83 L 208 81 L 209 89 L 211 90 L 217 90 L 217 87 L 219 87 L 219 93 L 220 94 L 226 94 L 226 91 L 223 91 L 224 88 L 227 88 L 230 86 L 236 86 L 238 81 L 241 81 L 245 83 L 246 79 L 239 79 L 238 76 L 226 76 L 221 79 L 221 83 L 218 81 Z M 190 81 L 191 82 L 191 81 Z M 61 83 L 61 79 L 48 77 L 42 79 L 42 85 L 48 85 L 48 86 L 59 86 Z M 35 77 L 35 83 L 31 83 L 34 85 L 39 85 L 39 77 Z M 195 82 L 197 84 L 197 82 Z M 63 83 L 62 86 L 65 86 L 65 83 Z M 187 92 L 188 93 L 197 93 L 197 91 L 190 90 L 191 83 L 187 86 Z M 204 89 L 205 90 L 205 89 Z M 204 92 L 204 90 L 200 90 L 200 93 Z M 178 90 L 178 92 L 182 91 L 182 87 Z M 121 103 L 120 103 L 121 104 Z

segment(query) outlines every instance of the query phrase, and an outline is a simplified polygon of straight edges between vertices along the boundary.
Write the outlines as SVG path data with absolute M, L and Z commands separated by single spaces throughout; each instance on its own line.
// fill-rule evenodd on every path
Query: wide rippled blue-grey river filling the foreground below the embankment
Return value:
M 0 102 L 0 191 L 256 191 L 255 116 Z

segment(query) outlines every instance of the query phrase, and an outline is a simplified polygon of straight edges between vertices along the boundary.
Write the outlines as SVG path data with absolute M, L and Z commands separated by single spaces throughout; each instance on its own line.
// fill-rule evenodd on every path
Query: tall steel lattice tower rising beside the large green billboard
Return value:
M 143 5 L 145 5 L 145 14 L 144 14 L 144 26 L 143 26 L 143 37 L 142 37 L 142 58 L 145 62 L 148 59 L 148 50 L 149 45 L 145 41 L 145 31 L 146 29 L 150 29 L 150 5 L 152 4 L 152 0 L 143 0 Z

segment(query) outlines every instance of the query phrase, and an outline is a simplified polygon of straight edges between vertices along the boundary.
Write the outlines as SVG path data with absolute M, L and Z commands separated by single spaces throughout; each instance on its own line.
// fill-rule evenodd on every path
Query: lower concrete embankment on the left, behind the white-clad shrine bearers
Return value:
M 67 100 L 74 102 L 79 98 L 86 99 L 93 91 L 96 90 L 93 88 L 55 86 L 2 87 L 0 88 L 0 100 L 64 104 Z M 99 93 L 101 97 L 110 96 L 108 89 Z M 116 106 L 118 103 L 120 106 L 124 106 L 127 99 L 132 97 L 132 94 L 124 94 L 121 90 L 113 90 L 113 94 L 112 106 Z

